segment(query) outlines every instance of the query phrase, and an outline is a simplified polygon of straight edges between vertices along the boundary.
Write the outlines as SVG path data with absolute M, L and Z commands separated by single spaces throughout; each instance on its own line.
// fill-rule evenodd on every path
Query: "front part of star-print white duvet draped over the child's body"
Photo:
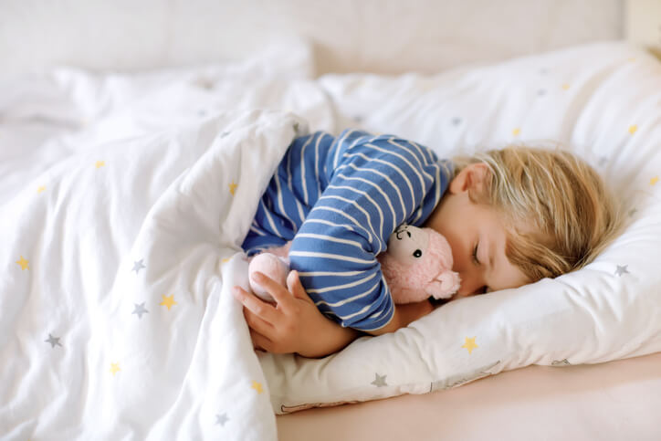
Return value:
M 237 250 L 304 130 L 256 110 L 96 133 L 22 183 L 0 210 L 0 437 L 277 437 L 228 289 L 245 282 Z

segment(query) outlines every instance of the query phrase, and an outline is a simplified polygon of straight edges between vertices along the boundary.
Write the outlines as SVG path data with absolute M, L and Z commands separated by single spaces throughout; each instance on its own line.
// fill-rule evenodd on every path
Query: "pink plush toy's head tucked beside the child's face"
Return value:
M 400 226 L 378 259 L 395 303 L 430 296 L 447 299 L 459 289 L 459 275 L 452 271 L 452 249 L 432 228 Z

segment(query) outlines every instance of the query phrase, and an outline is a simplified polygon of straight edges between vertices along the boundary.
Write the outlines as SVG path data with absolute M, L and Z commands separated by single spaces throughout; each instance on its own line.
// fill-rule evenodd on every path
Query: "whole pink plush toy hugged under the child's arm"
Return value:
M 287 286 L 289 243 L 270 248 L 252 258 L 248 275 L 256 271 Z M 395 303 L 411 303 L 428 297 L 448 299 L 461 280 L 452 270 L 452 250 L 444 236 L 432 228 L 400 226 L 388 239 L 386 252 L 376 257 Z M 250 280 L 250 288 L 261 299 L 273 301 L 268 292 Z

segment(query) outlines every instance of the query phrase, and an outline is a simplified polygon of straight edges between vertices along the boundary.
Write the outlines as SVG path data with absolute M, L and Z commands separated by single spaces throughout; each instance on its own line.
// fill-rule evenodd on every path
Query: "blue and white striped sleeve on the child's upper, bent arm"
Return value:
M 414 142 L 362 131 L 343 132 L 325 161 L 328 185 L 292 241 L 291 268 L 324 314 L 375 331 L 394 313 L 376 256 L 397 226 L 432 213 L 448 163 Z

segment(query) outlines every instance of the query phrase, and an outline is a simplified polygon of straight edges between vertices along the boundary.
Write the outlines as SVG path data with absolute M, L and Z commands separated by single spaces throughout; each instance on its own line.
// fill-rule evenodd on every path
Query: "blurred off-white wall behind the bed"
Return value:
M 239 58 L 288 36 L 318 72 L 434 72 L 623 36 L 622 0 L 0 0 L 0 78 Z

